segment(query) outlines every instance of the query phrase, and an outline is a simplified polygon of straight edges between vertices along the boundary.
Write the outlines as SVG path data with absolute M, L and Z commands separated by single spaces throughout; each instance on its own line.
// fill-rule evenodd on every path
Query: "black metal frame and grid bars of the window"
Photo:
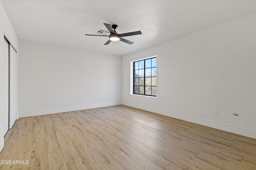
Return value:
M 156 95 L 152 95 L 152 87 L 155 87 L 155 94 L 156 94 L 156 84 L 155 84 L 155 86 L 152 86 L 152 78 L 156 78 L 156 74 L 157 74 L 157 72 L 155 72 L 155 76 L 152 76 L 152 68 L 155 68 L 155 70 L 156 70 L 156 66 L 153 66 L 152 67 L 152 59 L 156 59 L 156 57 L 150 57 L 150 58 L 147 58 L 147 59 L 142 59 L 142 60 L 138 60 L 138 61 L 133 61 L 133 77 L 132 77 L 132 79 L 133 79 L 133 85 L 132 85 L 132 88 L 133 88 L 133 90 L 132 90 L 132 93 L 133 94 L 136 94 L 136 95 L 141 95 L 141 96 L 153 96 L 153 97 L 156 97 Z M 148 60 L 148 59 L 151 59 L 151 67 L 147 67 L 146 68 L 146 60 Z M 140 63 L 140 62 L 142 62 L 142 61 L 144 61 L 144 68 L 140 68 L 140 66 L 138 66 L 138 69 L 136 69 L 135 68 L 135 63 L 136 62 L 138 62 L 138 63 Z M 157 63 L 157 61 L 156 61 L 156 63 Z M 151 69 L 151 76 L 146 76 L 146 69 L 148 69 L 148 68 L 150 68 Z M 140 70 L 144 70 L 143 72 L 144 72 L 144 75 L 143 76 L 140 76 Z M 136 76 L 136 74 L 135 74 L 135 72 L 136 71 L 138 71 L 137 72 L 137 74 L 138 74 L 138 76 Z M 143 82 L 143 85 L 140 85 L 140 78 L 144 78 L 144 82 Z M 151 78 L 151 85 L 149 86 L 149 85 L 146 85 L 146 78 Z M 137 79 L 137 81 L 138 81 L 138 85 L 135 85 L 135 81 L 136 81 L 136 79 Z M 142 80 L 143 81 L 143 80 Z M 155 80 L 155 82 L 156 82 L 156 80 Z M 138 87 L 138 93 L 135 93 L 135 87 Z M 142 94 L 142 93 L 140 93 L 140 87 L 144 87 L 144 93 Z M 149 95 L 149 94 L 146 94 L 146 87 L 151 87 L 151 95 Z

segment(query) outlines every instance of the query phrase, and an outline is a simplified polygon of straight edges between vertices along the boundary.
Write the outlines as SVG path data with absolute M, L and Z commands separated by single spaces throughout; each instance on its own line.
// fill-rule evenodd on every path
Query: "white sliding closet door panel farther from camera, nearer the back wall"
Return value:
M 15 49 L 10 47 L 10 111 L 9 111 L 9 127 L 11 128 L 16 121 L 17 113 L 17 52 Z

